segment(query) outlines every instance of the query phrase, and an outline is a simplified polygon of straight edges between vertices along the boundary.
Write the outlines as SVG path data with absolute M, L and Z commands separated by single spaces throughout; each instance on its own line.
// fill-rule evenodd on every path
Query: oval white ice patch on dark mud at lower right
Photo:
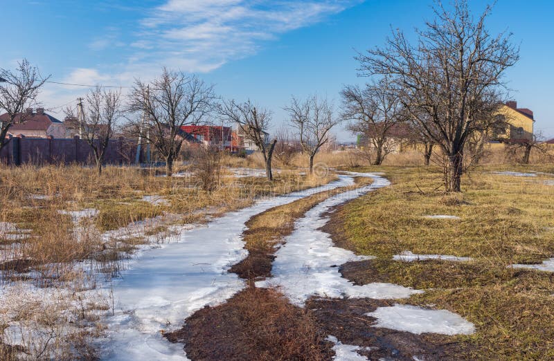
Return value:
M 374 327 L 407 331 L 416 335 L 421 333 L 471 335 L 475 332 L 474 324 L 447 310 L 429 310 L 418 306 L 395 304 L 378 307 L 366 315 L 377 319 Z

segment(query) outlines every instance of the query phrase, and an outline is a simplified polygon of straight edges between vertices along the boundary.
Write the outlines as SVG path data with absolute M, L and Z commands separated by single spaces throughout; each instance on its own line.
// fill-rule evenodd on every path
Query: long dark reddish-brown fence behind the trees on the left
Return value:
M 136 142 L 125 138 L 109 141 L 104 156 L 105 164 L 122 165 L 134 163 Z M 0 162 L 8 165 L 22 164 L 91 164 L 94 154 L 87 140 L 75 138 L 10 138 L 0 151 Z

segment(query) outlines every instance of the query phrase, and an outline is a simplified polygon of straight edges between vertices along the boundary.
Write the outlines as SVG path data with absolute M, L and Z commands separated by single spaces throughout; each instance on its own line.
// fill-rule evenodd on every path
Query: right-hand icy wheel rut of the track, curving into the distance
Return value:
M 357 256 L 350 250 L 333 246 L 330 235 L 319 230 L 328 221 L 323 214 L 335 205 L 390 184 L 388 180 L 375 174 L 349 175 L 370 176 L 373 183 L 332 196 L 298 219 L 294 225 L 294 232 L 285 238 L 284 246 L 276 252 L 271 269 L 274 277 L 258 281 L 256 286 L 280 287 L 290 301 L 298 306 L 303 306 L 306 299 L 314 295 L 334 298 L 397 299 L 423 292 L 386 283 L 357 286 L 341 277 L 338 266 L 348 261 L 361 261 L 370 257 Z

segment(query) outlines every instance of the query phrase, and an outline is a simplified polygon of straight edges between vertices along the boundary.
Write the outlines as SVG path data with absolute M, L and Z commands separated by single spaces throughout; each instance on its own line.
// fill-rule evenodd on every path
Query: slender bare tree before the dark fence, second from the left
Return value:
M 116 123 L 123 115 L 121 91 L 102 91 L 102 87 L 97 86 L 87 94 L 87 111 L 78 111 L 82 111 L 83 117 L 79 124 L 82 138 L 87 140 L 92 149 L 100 176 L 109 140 L 114 136 Z M 68 108 L 65 113 L 67 117 L 75 118 L 73 109 Z

